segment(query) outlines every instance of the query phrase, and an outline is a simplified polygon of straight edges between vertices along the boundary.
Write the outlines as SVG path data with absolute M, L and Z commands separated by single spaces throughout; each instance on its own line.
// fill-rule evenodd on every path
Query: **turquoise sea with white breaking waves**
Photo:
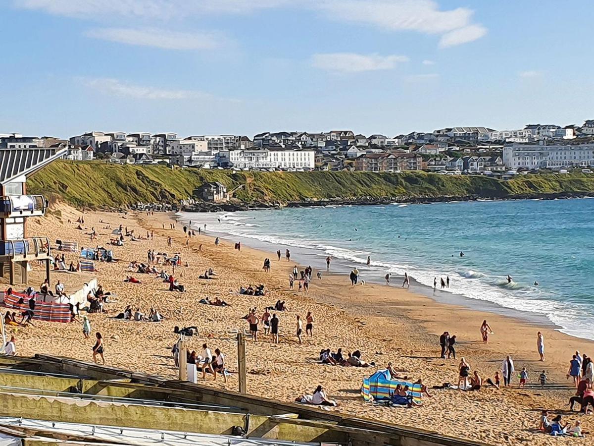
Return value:
M 594 339 L 592 199 L 327 206 L 181 218 L 207 222 L 208 233 L 281 249 L 283 256 L 287 247 L 308 253 L 314 268 L 325 270 L 326 256 L 332 256 L 331 269 L 358 266 L 367 280 L 383 281 L 390 272 L 399 286 L 407 272 L 431 288 L 437 277 L 439 288 L 440 278 L 450 277 L 447 293 L 539 315 L 560 331 Z

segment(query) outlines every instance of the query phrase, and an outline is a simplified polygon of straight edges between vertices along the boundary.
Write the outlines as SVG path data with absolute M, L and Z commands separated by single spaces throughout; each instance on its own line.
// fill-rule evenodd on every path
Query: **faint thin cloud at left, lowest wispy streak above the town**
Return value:
M 145 87 L 125 83 L 112 78 L 80 78 L 81 83 L 91 89 L 113 96 L 121 96 L 134 99 L 190 99 L 190 98 L 211 98 L 214 96 L 208 93 L 196 92 L 193 90 L 168 90 L 155 87 Z

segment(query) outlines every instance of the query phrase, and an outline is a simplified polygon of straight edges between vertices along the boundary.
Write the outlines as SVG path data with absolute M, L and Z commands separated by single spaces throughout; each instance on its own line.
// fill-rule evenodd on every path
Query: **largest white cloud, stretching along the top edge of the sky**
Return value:
M 246 14 L 266 8 L 321 12 L 330 20 L 363 23 L 388 31 L 441 34 L 440 47 L 479 39 L 485 27 L 472 23 L 473 10 L 440 10 L 434 0 L 12 0 L 15 6 L 92 20 L 138 17 L 195 19 L 204 14 Z

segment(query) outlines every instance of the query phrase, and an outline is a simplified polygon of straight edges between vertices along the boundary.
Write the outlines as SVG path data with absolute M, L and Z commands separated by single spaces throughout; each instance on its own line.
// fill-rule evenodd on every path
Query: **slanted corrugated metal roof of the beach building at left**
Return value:
M 10 183 L 20 175 L 33 174 L 66 152 L 67 150 L 43 147 L 0 149 L 0 183 Z

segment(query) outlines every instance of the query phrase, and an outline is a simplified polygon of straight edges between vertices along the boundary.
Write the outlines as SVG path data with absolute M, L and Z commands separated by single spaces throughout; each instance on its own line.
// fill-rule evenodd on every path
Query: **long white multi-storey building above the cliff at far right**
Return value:
M 594 143 L 580 145 L 523 145 L 503 147 L 503 163 L 509 169 L 554 169 L 594 165 Z

